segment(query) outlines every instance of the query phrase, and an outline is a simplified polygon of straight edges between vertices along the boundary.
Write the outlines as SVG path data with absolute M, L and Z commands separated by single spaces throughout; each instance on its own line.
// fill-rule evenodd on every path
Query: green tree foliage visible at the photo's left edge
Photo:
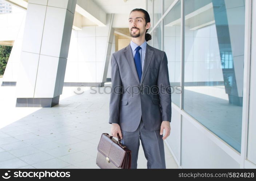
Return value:
M 7 65 L 12 46 L 0 45 L 0 75 L 4 75 L 4 70 Z

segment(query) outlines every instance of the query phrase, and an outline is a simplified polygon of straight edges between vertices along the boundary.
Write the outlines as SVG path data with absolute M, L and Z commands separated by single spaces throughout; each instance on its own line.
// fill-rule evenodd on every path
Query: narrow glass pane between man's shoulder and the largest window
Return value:
M 168 59 L 169 80 L 172 87 L 172 102 L 180 106 L 180 1 L 164 17 L 164 51 Z

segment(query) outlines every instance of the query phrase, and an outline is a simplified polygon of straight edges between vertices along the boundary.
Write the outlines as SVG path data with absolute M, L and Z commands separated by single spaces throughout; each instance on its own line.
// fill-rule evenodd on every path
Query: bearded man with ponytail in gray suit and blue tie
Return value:
M 147 44 L 147 11 L 133 9 L 128 22 L 132 41 L 111 60 L 111 135 L 117 138 L 119 133 L 122 144 L 132 151 L 131 168 L 137 168 L 140 140 L 147 168 L 165 168 L 163 140 L 170 134 L 172 113 L 167 56 Z

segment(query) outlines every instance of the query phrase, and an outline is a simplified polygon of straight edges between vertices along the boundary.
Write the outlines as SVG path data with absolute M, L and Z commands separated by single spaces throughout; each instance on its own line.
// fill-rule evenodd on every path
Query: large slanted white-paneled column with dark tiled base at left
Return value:
M 76 0 L 29 0 L 16 107 L 59 104 Z

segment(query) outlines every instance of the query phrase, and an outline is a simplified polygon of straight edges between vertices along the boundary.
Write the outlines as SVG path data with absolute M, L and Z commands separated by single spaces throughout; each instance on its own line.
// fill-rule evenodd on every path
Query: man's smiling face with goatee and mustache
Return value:
M 140 11 L 133 11 L 129 16 L 129 31 L 131 37 L 137 38 L 139 36 L 145 35 L 145 32 L 150 27 L 150 22 L 147 23 L 144 18 L 144 13 Z

